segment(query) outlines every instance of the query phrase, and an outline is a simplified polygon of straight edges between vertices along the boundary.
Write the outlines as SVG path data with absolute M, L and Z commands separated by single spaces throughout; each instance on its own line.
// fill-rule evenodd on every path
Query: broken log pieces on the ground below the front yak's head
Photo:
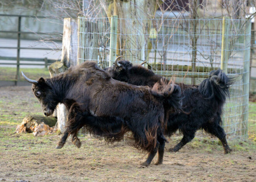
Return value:
M 15 133 L 33 133 L 34 136 L 44 136 L 57 131 L 56 122 L 56 117 L 26 116 L 21 124 L 17 125 Z

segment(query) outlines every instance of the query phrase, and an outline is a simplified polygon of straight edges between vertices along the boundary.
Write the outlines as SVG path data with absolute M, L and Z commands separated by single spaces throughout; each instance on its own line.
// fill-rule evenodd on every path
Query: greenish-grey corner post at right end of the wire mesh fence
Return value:
M 242 134 L 248 137 L 248 109 L 249 109 L 249 80 L 250 80 L 250 52 L 251 52 L 251 21 L 247 20 L 244 31 L 244 75 L 243 75 L 243 119 Z

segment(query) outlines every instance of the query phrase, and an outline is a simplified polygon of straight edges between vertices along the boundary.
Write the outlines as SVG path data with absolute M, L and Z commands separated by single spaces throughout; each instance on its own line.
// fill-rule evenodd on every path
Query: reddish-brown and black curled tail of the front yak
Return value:
M 182 111 L 181 89 L 173 80 L 167 82 L 166 79 L 162 78 L 160 82 L 154 84 L 152 94 L 163 99 L 165 108 L 173 109 L 175 112 Z

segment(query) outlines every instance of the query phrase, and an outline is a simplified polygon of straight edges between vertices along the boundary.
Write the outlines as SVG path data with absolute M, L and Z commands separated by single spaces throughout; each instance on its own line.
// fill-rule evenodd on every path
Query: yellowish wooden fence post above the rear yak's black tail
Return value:
M 224 73 L 228 71 L 228 57 L 229 57 L 229 37 L 230 35 L 230 18 L 223 17 L 222 22 L 222 40 L 221 40 L 221 65 L 220 69 Z

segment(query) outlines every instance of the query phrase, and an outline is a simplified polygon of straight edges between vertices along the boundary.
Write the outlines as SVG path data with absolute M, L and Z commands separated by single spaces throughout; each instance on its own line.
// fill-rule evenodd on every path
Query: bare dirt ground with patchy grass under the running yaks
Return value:
M 68 139 L 57 150 L 57 134 L 14 134 L 31 113 L 42 114 L 31 87 L 0 87 L 0 181 L 256 181 L 255 141 L 229 141 L 233 152 L 224 155 L 217 140 L 194 139 L 177 153 L 166 150 L 163 165 L 141 167 L 146 154 L 126 141 L 107 145 L 85 135 L 80 149 Z M 168 138 L 166 149 L 178 140 Z

